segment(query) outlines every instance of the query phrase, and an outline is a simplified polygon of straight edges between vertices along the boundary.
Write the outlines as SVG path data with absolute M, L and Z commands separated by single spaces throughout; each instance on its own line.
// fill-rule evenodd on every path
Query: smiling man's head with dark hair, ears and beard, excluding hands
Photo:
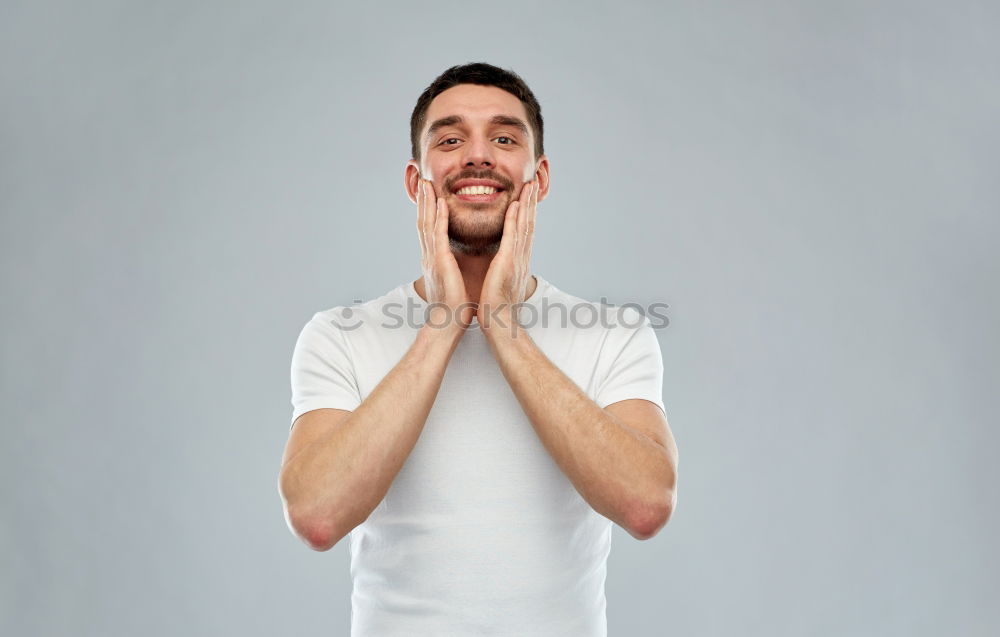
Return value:
M 420 178 L 448 204 L 448 234 L 458 252 L 496 252 L 504 213 L 524 183 L 538 179 L 538 200 L 548 193 L 542 113 L 527 84 L 489 64 L 454 66 L 428 86 L 410 118 L 413 158 L 405 185 L 412 201 Z M 469 194 L 469 185 L 495 192 Z

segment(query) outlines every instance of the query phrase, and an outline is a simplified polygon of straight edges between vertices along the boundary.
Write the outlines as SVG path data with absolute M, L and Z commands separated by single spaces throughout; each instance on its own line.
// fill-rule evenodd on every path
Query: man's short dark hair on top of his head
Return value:
M 535 159 L 545 152 L 542 144 L 542 107 L 535 99 L 528 85 L 521 76 L 513 71 L 502 69 L 484 62 L 473 62 L 453 66 L 431 82 L 417 99 L 410 116 L 410 152 L 413 159 L 420 159 L 420 131 L 427 119 L 427 108 L 435 97 L 459 84 L 478 84 L 480 86 L 495 86 L 501 88 L 524 104 L 528 114 L 528 124 L 535 133 Z

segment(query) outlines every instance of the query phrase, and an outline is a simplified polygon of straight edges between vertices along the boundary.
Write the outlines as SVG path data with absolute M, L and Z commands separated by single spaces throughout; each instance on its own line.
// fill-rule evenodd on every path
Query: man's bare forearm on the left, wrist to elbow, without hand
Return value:
M 332 528 L 336 543 L 385 497 L 417 443 L 461 332 L 424 326 L 365 400 L 288 462 L 282 492 L 289 516 Z

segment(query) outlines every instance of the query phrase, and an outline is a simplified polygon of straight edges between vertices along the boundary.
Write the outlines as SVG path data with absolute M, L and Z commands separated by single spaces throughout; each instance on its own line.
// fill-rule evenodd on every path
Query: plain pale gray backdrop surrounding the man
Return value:
M 996 3 L 0 6 L 3 634 L 346 634 L 292 346 L 419 276 L 408 118 L 470 61 L 543 106 L 534 271 L 670 305 L 610 634 L 1000 630 Z

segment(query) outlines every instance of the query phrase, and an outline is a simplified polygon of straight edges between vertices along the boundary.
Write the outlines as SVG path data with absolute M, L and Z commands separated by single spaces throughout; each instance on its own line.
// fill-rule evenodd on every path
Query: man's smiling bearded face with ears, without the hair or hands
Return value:
M 448 204 L 448 235 L 458 252 L 494 254 L 507 207 L 524 183 L 540 177 L 539 201 L 548 190 L 548 159 L 534 156 L 524 104 L 495 86 L 460 84 L 435 97 L 420 145 L 420 164 L 407 165 L 407 190 L 416 201 L 420 177 L 434 184 Z

